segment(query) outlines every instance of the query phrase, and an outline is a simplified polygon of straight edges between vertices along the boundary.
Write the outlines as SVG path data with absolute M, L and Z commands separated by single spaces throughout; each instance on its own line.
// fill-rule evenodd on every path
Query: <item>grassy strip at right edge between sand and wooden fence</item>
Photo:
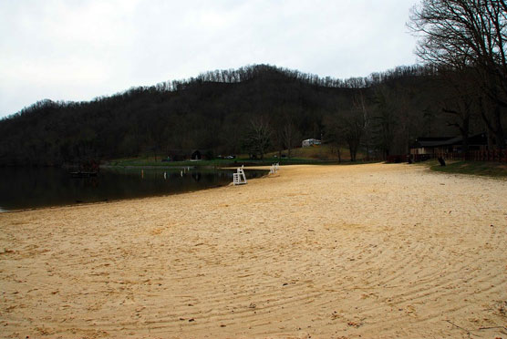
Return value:
M 507 163 L 490 161 L 447 161 L 447 166 L 440 166 L 437 160 L 431 160 L 425 163 L 428 164 L 431 170 L 439 172 L 507 178 Z

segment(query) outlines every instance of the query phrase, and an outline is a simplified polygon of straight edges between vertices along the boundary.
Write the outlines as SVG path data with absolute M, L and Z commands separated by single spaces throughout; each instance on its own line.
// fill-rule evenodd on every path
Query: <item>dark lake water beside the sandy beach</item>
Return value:
M 0 211 L 121 200 L 204 190 L 233 182 L 234 170 L 100 170 L 72 178 L 61 169 L 0 169 Z M 266 174 L 245 170 L 248 179 Z

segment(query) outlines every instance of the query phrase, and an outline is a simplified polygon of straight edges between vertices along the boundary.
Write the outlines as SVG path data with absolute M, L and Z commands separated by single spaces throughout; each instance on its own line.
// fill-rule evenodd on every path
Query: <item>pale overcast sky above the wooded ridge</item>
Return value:
M 339 78 L 411 65 L 417 2 L 2 0 L 0 117 L 253 64 Z

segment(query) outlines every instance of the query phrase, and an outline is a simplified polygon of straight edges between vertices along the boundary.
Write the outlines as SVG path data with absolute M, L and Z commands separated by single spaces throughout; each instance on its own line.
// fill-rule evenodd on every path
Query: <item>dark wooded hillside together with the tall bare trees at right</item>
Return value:
M 89 102 L 42 100 L 0 120 L 0 165 L 59 166 L 170 149 L 210 155 L 291 149 L 324 139 L 350 160 L 407 154 L 419 137 L 487 132 L 505 148 L 503 0 L 423 0 L 409 28 L 422 65 L 368 77 L 317 77 L 270 65 L 215 70 Z

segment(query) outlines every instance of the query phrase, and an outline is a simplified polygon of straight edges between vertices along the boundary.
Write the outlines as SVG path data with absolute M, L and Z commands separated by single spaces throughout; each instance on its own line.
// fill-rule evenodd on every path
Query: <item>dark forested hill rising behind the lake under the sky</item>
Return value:
M 440 76 L 398 67 L 365 78 L 319 78 L 265 65 L 131 88 L 90 102 L 39 101 L 0 120 L 0 165 L 51 166 L 169 149 L 262 153 L 323 138 L 378 155 L 420 136 L 456 135 Z M 481 123 L 471 128 L 483 130 Z M 264 133 L 264 149 L 252 145 Z

